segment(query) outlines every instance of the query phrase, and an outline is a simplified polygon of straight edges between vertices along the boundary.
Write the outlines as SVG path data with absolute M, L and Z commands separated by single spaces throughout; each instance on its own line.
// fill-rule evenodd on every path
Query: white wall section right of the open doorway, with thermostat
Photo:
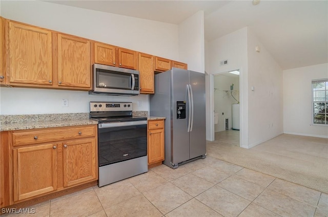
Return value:
M 260 47 L 260 52 L 255 47 Z M 249 147 L 283 132 L 282 70 L 248 29 Z M 254 87 L 254 91 L 251 87 Z

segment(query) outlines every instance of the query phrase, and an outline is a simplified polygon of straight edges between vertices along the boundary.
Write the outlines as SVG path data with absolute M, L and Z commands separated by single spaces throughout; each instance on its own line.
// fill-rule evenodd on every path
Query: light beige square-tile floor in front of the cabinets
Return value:
M 4 216 L 328 216 L 328 195 L 212 157 L 161 165 Z

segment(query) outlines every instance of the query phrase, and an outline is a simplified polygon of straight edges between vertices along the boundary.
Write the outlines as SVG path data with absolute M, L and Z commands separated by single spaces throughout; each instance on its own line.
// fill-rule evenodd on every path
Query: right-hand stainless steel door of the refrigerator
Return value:
M 189 71 L 193 96 L 193 117 L 190 132 L 190 159 L 206 154 L 205 74 Z

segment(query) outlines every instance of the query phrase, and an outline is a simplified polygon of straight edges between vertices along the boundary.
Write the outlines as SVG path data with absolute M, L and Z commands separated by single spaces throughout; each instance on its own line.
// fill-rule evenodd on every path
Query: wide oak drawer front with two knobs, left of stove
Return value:
M 85 138 L 95 135 L 96 128 L 94 125 L 34 129 L 14 132 L 12 134 L 12 144 L 13 146 L 28 145 L 66 139 Z

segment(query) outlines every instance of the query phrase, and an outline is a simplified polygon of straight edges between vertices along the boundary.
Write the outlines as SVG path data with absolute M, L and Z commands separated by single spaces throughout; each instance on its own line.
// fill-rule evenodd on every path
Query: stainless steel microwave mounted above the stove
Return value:
M 139 93 L 139 71 L 93 64 L 93 85 L 89 94 L 135 96 Z

